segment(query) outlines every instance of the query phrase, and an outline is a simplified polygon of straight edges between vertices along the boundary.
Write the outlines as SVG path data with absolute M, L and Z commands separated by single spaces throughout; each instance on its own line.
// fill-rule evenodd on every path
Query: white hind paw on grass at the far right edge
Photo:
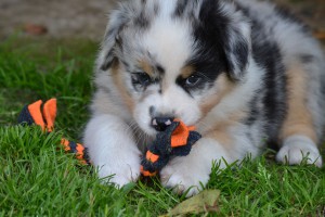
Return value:
M 312 140 L 303 136 L 292 136 L 284 141 L 284 145 L 276 155 L 276 161 L 297 165 L 306 162 L 322 166 L 322 156 L 316 144 Z

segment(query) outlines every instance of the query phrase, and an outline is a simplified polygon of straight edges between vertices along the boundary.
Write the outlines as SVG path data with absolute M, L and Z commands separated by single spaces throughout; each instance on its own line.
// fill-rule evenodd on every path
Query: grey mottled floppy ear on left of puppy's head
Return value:
M 129 22 L 122 9 L 114 11 L 109 16 L 104 40 L 98 56 L 98 69 L 107 71 L 116 59 L 116 46 L 120 41 L 120 31 Z

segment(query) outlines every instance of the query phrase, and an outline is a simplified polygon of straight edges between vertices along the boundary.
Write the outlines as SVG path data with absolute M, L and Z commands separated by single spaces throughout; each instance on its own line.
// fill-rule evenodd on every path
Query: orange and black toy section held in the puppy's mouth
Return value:
M 157 133 L 156 140 L 141 161 L 141 174 L 155 176 L 170 157 L 190 154 L 192 145 L 202 137 L 194 129 L 195 127 L 187 127 L 183 122 L 174 119 L 165 131 Z

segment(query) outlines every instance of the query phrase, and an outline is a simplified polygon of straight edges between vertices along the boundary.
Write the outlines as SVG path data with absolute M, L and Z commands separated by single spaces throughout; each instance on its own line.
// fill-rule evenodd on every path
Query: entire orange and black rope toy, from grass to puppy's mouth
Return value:
M 54 130 L 56 118 L 56 99 L 41 100 L 25 105 L 18 116 L 20 124 L 38 125 L 44 132 Z M 157 174 L 173 156 L 186 156 L 192 145 L 200 139 L 195 127 L 187 127 L 183 122 L 174 119 L 165 131 L 157 133 L 155 141 L 148 146 L 145 156 L 141 161 L 141 174 L 152 177 Z M 80 143 L 61 139 L 61 144 L 66 152 L 76 154 L 77 159 L 83 165 L 90 165 L 87 148 Z

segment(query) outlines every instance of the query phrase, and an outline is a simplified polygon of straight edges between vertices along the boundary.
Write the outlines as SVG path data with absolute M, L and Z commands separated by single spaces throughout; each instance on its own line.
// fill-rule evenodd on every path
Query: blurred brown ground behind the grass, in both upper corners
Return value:
M 100 40 L 120 0 L 0 0 L 0 39 L 12 35 Z M 273 0 L 325 38 L 325 0 Z

